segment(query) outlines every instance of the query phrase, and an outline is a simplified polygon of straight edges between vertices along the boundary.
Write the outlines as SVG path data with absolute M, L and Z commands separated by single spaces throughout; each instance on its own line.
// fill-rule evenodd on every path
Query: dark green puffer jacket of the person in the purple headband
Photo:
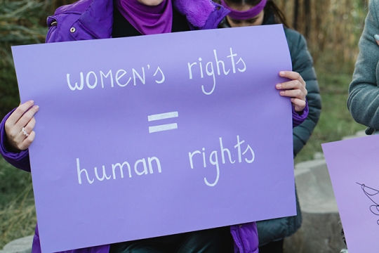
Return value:
M 277 22 L 272 13 L 265 13 L 263 25 L 273 25 Z M 226 20 L 221 22 L 221 27 L 230 27 Z M 307 49 L 307 41 L 295 30 L 284 28 L 288 48 L 292 59 L 292 70 L 298 72 L 307 84 L 307 102 L 310 108 L 305 122 L 293 129 L 293 156 L 298 155 L 305 143 L 310 138 L 314 127 L 319 121 L 321 113 L 321 96 L 319 83 L 317 82 L 316 72 L 313 68 L 313 60 Z M 295 233 L 301 226 L 302 217 L 298 197 L 296 196 L 297 216 L 284 217 L 279 219 L 270 219 L 267 221 L 258 221 L 259 245 L 265 245 L 268 242 L 282 240 Z

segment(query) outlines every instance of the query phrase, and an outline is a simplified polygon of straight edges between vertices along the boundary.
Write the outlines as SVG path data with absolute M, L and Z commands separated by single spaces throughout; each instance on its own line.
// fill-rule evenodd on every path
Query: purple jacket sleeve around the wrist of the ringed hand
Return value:
M 9 162 L 14 167 L 25 171 L 30 171 L 29 150 L 23 150 L 20 153 L 13 153 L 6 149 L 5 122 L 14 110 L 15 109 L 9 112 L 0 123 L 0 154 L 2 157 L 4 157 L 6 162 Z

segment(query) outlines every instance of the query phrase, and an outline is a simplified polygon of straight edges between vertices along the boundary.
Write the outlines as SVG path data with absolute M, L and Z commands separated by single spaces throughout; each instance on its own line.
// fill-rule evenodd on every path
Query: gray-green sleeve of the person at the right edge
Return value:
M 379 46 L 374 39 L 379 34 L 378 7 L 378 1 L 369 1 L 347 98 L 347 108 L 355 121 L 371 129 L 379 129 Z

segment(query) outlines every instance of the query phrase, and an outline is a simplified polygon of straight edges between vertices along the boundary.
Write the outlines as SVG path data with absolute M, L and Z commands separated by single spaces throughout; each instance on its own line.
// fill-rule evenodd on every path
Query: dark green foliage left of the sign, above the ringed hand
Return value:
M 41 43 L 47 32 L 46 4 L 0 0 L 0 117 L 18 106 L 18 86 L 11 46 Z

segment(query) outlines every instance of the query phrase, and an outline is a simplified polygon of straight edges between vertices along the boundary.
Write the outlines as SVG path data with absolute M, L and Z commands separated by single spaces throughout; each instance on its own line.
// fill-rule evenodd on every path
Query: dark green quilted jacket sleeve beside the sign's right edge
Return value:
M 307 41 L 298 32 L 286 29 L 288 47 L 292 58 L 293 71 L 298 72 L 307 84 L 309 112 L 303 122 L 293 129 L 293 155 L 296 156 L 309 140 L 321 113 L 321 96 L 313 59 L 307 49 Z

